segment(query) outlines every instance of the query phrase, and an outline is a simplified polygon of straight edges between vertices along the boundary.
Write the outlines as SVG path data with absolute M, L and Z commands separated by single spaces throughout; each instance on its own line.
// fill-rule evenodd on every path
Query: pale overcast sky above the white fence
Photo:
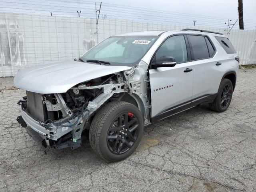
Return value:
M 95 18 L 93 0 L 1 0 L 0 12 Z M 101 0 L 100 18 L 226 28 L 238 19 L 238 0 Z M 99 8 L 100 1 L 97 2 Z M 256 30 L 256 0 L 243 0 L 244 29 Z M 230 26 L 231 27 L 231 26 Z M 239 28 L 238 22 L 234 28 Z

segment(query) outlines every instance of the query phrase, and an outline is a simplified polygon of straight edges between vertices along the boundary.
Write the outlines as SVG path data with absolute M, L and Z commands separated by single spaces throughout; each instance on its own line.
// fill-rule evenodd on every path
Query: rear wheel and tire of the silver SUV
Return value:
M 223 79 L 220 82 L 218 95 L 213 103 L 209 104 L 209 108 L 216 112 L 224 112 L 228 109 L 233 95 L 233 84 L 229 79 Z

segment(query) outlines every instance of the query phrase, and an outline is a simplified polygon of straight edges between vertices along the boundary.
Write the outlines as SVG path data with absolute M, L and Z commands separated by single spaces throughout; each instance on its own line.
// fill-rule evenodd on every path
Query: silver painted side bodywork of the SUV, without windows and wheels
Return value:
M 197 98 L 205 94 L 215 94 L 218 92 L 220 81 L 228 71 L 237 71 L 238 62 L 234 59 L 238 54 L 226 54 L 225 50 L 216 40 L 216 36 L 226 37 L 224 35 L 195 32 L 195 31 L 169 31 L 163 33 L 151 49 L 142 58 L 144 62 L 150 64 L 151 58 L 162 44 L 162 42 L 175 34 L 201 34 L 208 36 L 216 47 L 214 57 L 202 60 L 188 61 L 176 64 L 174 67 L 162 67 L 150 69 L 151 85 L 151 117 L 164 113 L 166 109 L 182 104 L 190 99 Z M 222 65 L 216 66 L 216 62 L 222 62 Z M 186 68 L 192 68 L 192 72 L 184 73 Z M 173 85 L 172 88 L 165 88 L 167 85 Z M 161 88 L 156 91 L 156 88 Z M 163 88 L 163 89 L 162 89 Z M 155 91 L 154 91 L 155 90 Z

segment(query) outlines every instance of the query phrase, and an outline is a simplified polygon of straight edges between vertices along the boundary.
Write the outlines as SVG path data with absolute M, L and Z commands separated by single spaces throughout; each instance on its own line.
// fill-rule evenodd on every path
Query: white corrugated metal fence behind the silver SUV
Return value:
M 14 76 L 22 68 L 78 58 L 114 34 L 145 30 L 196 28 L 163 23 L 0 13 L 0 77 Z M 226 34 L 224 28 L 200 27 Z M 232 30 L 229 38 L 241 64 L 256 64 L 256 31 Z

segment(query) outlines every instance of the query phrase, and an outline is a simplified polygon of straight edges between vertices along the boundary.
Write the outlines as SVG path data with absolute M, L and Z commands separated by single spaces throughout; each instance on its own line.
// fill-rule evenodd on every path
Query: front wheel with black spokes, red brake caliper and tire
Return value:
M 100 158 L 120 161 L 136 150 L 143 128 L 144 120 L 136 106 L 128 102 L 110 102 L 92 120 L 90 145 Z

